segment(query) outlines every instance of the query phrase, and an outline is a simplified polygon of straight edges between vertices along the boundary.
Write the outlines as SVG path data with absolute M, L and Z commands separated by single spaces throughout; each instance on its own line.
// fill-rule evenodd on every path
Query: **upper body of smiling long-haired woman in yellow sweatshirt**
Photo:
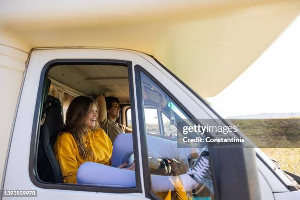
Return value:
M 79 96 L 72 100 L 65 128 L 57 136 L 54 152 L 65 183 L 77 183 L 77 170 L 85 162 L 111 164 L 112 143 L 100 128 L 98 103 L 92 97 Z M 126 169 L 133 170 L 134 164 Z

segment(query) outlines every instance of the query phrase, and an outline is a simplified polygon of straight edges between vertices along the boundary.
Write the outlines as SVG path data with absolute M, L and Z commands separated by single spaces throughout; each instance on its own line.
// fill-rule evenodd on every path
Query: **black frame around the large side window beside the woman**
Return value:
M 49 183 L 42 181 L 37 173 L 37 151 L 38 142 L 40 137 L 40 122 L 42 119 L 42 107 L 44 98 L 42 96 L 46 87 L 46 80 L 49 70 L 57 65 L 117 65 L 125 66 L 128 70 L 128 82 L 129 82 L 129 97 L 131 106 L 131 119 L 132 119 L 132 139 L 133 139 L 133 151 L 136 160 L 139 160 L 138 152 L 138 137 L 137 137 L 137 124 L 135 116 L 135 100 L 134 100 L 134 84 L 133 84 L 133 70 L 132 62 L 128 60 L 113 60 L 113 59 L 55 59 L 45 64 L 42 69 L 38 93 L 34 109 L 34 117 L 32 124 L 32 133 L 30 141 L 29 152 L 29 177 L 32 183 L 44 189 L 62 189 L 62 190 L 75 190 L 75 191 L 88 191 L 88 192 L 103 192 L 103 193 L 143 193 L 141 185 L 140 165 L 139 162 L 135 162 L 135 179 L 136 187 L 133 188 L 115 188 L 115 187 L 99 187 L 97 185 L 85 185 L 85 184 L 65 184 L 65 183 Z

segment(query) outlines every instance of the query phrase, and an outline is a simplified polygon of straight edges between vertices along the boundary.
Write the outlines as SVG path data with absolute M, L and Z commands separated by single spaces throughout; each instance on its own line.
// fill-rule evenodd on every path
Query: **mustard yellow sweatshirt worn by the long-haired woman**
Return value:
M 89 130 L 87 139 L 89 141 L 87 146 L 94 153 L 91 160 L 85 160 L 79 155 L 77 144 L 71 133 L 64 132 L 58 135 L 54 153 L 65 183 L 77 183 L 77 170 L 84 162 L 91 161 L 110 165 L 112 144 L 106 133 L 101 128 L 95 132 Z

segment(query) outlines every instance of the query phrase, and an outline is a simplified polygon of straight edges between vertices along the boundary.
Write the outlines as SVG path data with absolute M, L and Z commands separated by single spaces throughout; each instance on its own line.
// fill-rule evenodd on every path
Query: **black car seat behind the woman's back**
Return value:
M 47 80 L 47 84 L 49 81 Z M 39 137 L 37 171 L 40 179 L 45 182 L 62 183 L 60 167 L 53 152 L 56 136 L 64 128 L 61 104 L 58 99 L 48 96 L 48 92 L 46 95 Z

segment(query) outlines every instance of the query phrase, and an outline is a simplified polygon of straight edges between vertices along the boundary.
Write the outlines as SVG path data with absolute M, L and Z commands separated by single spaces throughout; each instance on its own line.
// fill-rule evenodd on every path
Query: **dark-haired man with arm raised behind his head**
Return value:
M 114 143 L 119 133 L 132 133 L 132 129 L 116 122 L 120 115 L 120 100 L 116 97 L 97 97 L 99 105 L 99 122 L 101 128 L 107 133 L 111 142 Z

